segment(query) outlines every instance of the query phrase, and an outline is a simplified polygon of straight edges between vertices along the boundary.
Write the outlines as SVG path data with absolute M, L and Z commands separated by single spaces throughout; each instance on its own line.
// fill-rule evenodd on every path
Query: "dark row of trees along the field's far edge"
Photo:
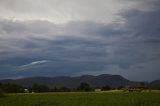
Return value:
M 88 83 L 82 82 L 76 88 L 70 89 L 67 87 L 54 87 L 49 88 L 46 85 L 33 84 L 31 87 L 23 87 L 18 84 L 2 84 L 0 83 L 0 93 L 25 93 L 25 92 L 90 92 L 94 91 L 95 88 L 91 87 Z M 110 86 L 104 86 L 101 88 L 102 90 L 110 90 Z

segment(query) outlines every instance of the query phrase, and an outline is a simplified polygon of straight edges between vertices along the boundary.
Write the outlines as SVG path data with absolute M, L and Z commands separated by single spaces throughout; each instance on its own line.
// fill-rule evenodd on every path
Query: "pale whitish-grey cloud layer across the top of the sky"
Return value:
M 142 10 L 139 4 L 143 3 L 136 0 L 37 0 L 35 2 L 32 0 L 1 0 L 0 17 L 22 21 L 48 20 L 54 23 L 68 21 L 110 23 L 121 20 L 117 13 L 122 9 Z M 143 10 L 146 10 L 146 7 L 147 5 L 143 7 Z

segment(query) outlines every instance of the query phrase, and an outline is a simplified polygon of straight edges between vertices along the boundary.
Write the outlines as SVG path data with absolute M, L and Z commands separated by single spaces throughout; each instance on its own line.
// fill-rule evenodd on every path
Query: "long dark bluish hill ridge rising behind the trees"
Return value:
M 23 79 L 6 79 L 0 80 L 1 83 L 15 83 L 25 87 L 32 86 L 33 84 L 46 85 L 50 88 L 54 87 L 68 87 L 76 88 L 81 82 L 87 82 L 92 87 L 102 87 L 109 85 L 111 87 L 127 86 L 130 84 L 135 84 L 137 82 L 129 81 L 120 75 L 109 75 L 102 74 L 99 76 L 83 75 L 78 77 L 31 77 Z

